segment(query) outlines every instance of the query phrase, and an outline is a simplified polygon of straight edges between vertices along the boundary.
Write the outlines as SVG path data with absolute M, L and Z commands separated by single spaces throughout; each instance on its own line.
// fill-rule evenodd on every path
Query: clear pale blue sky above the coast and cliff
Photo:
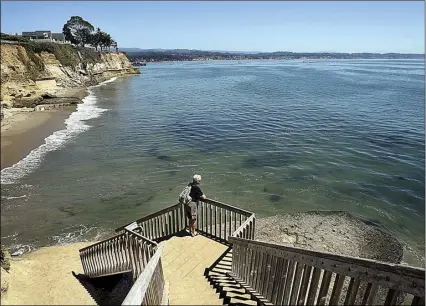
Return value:
M 61 32 L 72 15 L 121 47 L 424 53 L 424 2 L 1 1 L 1 31 Z

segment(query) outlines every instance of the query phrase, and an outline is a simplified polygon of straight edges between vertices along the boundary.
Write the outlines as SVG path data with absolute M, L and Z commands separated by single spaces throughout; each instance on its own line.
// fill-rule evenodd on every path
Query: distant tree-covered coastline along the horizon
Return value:
M 122 50 L 131 63 L 208 60 L 324 60 L 324 59 L 424 59 L 424 54 L 404 53 L 296 53 L 296 52 L 218 52 L 201 50 Z

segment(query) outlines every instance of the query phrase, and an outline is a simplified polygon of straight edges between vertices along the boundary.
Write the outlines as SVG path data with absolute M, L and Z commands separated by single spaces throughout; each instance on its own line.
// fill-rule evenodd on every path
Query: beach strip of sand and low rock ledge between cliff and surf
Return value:
M 65 120 L 76 111 L 88 95 L 87 88 L 58 88 L 55 98 L 35 108 L 4 109 L 1 121 L 1 170 L 13 166 L 32 150 L 45 143 L 45 138 L 65 129 Z

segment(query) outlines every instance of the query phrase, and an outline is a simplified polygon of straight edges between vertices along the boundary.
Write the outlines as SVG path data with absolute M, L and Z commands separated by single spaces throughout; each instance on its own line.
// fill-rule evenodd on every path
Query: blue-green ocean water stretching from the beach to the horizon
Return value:
M 423 60 L 155 63 L 90 89 L 1 172 L 2 243 L 98 239 L 175 204 L 192 174 L 254 211 L 345 210 L 423 265 Z

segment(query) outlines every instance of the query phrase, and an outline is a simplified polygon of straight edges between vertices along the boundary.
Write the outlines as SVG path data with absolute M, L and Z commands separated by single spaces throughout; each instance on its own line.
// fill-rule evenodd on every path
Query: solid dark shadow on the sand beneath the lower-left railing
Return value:
M 72 272 L 97 305 L 121 305 L 133 285 L 132 273 L 88 277 Z

